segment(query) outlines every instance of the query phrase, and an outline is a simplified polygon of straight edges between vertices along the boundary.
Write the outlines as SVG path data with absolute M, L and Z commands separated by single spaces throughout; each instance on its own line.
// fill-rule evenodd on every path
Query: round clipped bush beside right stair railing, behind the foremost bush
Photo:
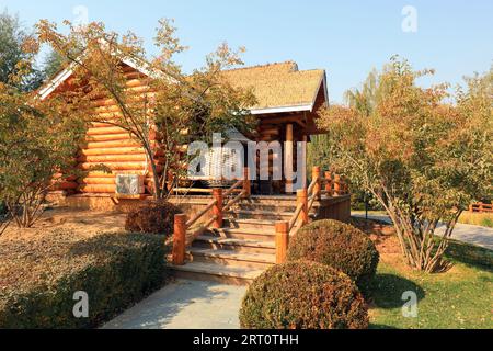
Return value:
M 302 227 L 290 240 L 288 261 L 309 260 L 343 271 L 362 288 L 375 275 L 379 253 L 362 230 L 323 219 Z

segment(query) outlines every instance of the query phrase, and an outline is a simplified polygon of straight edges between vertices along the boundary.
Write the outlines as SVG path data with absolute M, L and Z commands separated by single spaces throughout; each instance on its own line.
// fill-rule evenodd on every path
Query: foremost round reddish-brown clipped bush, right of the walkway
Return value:
M 248 329 L 364 329 L 368 310 L 356 285 L 331 267 L 297 261 L 256 278 L 240 309 Z

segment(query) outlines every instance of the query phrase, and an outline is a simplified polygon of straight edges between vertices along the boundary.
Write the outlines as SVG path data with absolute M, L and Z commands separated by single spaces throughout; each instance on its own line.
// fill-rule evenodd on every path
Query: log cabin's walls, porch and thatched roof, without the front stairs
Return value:
M 128 79 L 128 89 L 136 93 L 149 89 L 146 86 L 147 71 L 134 63 L 122 63 Z M 283 166 L 290 162 L 296 170 L 296 143 L 309 141 L 310 135 L 319 134 L 316 120 L 321 107 L 328 104 L 326 75 L 322 69 L 299 70 L 294 61 L 270 64 L 227 70 L 225 78 L 236 88 L 253 89 L 256 104 L 251 113 L 257 117 L 254 141 L 279 141 L 283 150 Z M 47 82 L 39 94 L 48 98 L 61 89 L 69 89 L 71 71 L 69 68 L 59 72 Z M 114 114 L 118 112 L 113 101 L 95 102 L 95 112 Z M 276 155 L 271 155 L 271 159 Z M 76 197 L 107 197 L 115 194 L 117 174 L 138 174 L 145 178 L 145 192 L 140 197 L 150 195 L 152 185 L 151 170 L 144 149 L 139 143 L 122 128 L 93 123 L 87 132 L 87 143 L 80 147 L 77 157 L 78 167 L 89 170 L 103 163 L 111 173 L 89 172 L 84 179 L 66 181 L 59 185 L 65 195 Z M 260 162 L 260 160 L 259 160 Z M 159 161 L 158 161 L 159 163 Z M 260 169 L 260 165 L 257 168 Z M 272 167 L 272 166 L 271 166 Z M 159 169 L 159 168 L 158 168 Z M 272 168 L 270 169 L 272 173 Z M 260 178 L 260 171 L 256 172 Z M 272 174 L 270 174 L 272 176 Z M 290 177 L 289 177 L 290 178 Z M 252 191 L 255 194 L 274 195 L 296 192 L 290 181 L 253 180 Z

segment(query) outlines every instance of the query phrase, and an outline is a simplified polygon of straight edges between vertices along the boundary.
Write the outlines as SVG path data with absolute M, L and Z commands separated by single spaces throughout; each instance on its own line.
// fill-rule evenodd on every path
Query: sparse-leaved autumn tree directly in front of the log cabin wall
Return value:
M 175 37 L 171 21 L 160 21 L 154 43 L 159 55 L 152 60 L 147 60 L 141 41 L 133 33 L 106 32 L 102 23 L 90 23 L 83 30 L 65 23 L 68 35 L 59 33 L 56 24 L 39 22 L 39 42 L 49 44 L 73 67 L 81 82 L 79 94 L 116 103 L 117 113 L 91 118 L 127 131 L 142 146 L 152 160 L 154 199 L 168 196 L 172 183 L 186 172 L 185 156 L 179 151 L 183 145 L 233 127 L 240 132 L 251 127 L 254 120 L 248 106 L 254 102 L 253 94 L 233 89 L 221 76 L 221 70 L 242 64 L 242 49 L 233 52 L 223 44 L 207 56 L 203 68 L 185 75 L 174 61 L 185 47 Z M 123 61 L 146 69 L 150 91 L 136 94 L 127 89 Z M 157 149 L 164 165 L 156 162 Z

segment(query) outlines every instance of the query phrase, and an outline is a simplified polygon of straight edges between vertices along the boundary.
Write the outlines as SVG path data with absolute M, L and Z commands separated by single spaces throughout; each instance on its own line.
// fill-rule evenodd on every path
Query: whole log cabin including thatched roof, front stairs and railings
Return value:
M 128 89 L 136 93 L 149 89 L 146 70 L 131 61 L 122 65 Z M 39 91 L 42 99 L 59 89 L 69 89 L 70 76 L 69 69 L 58 73 Z M 297 155 L 306 158 L 302 154 L 306 148 L 297 152 L 296 143 L 309 143 L 310 136 L 322 133 L 316 121 L 329 101 L 324 70 L 299 70 L 297 64 L 286 61 L 232 69 L 223 71 L 223 76 L 233 87 L 253 89 L 256 104 L 250 106 L 250 112 L 257 118 L 253 141 L 279 141 L 283 166 L 290 165 L 285 169 L 296 170 L 302 182 L 295 186 L 286 171 L 280 180 L 277 177 L 274 180 L 267 165 L 267 180 L 259 179 L 257 172 L 256 179 L 244 177 L 229 189 L 194 186 L 185 189 L 185 195 L 177 195 L 179 189 L 174 189 L 176 195 L 169 201 L 184 214 L 174 217 L 170 259 L 179 276 L 248 284 L 265 268 L 284 262 L 289 236 L 310 218 L 347 222 L 351 195 L 344 181 L 330 171 L 322 173 L 319 167 L 313 167 L 308 185 L 306 166 L 301 172 L 295 168 Z M 95 104 L 95 113 L 118 113 L 111 100 Z M 90 171 L 83 179 L 64 182 L 61 189 L 51 193 L 51 199 L 62 206 L 126 212 L 151 196 L 150 160 L 140 145 L 118 127 L 93 123 L 77 161 L 83 170 L 103 163 L 111 172 Z M 158 166 L 162 161 L 159 150 L 152 161 Z M 261 159 L 256 162 L 256 168 L 265 166 L 259 165 Z M 251 173 L 249 167 L 245 176 Z M 123 196 L 117 192 L 121 174 L 140 176 L 141 193 Z

